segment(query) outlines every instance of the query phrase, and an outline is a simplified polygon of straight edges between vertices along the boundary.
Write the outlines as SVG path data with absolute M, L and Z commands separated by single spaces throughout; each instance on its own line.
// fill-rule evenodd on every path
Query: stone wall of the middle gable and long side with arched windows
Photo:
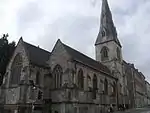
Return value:
M 106 75 L 84 64 L 72 61 L 71 56 L 67 53 L 61 42 L 57 42 L 55 45 L 49 60 L 49 65 L 52 70 L 56 65 L 60 65 L 63 69 L 63 88 L 51 91 L 51 98 L 54 103 L 52 105 L 53 111 L 55 111 L 57 107 L 59 112 L 62 111 L 61 113 L 75 112 L 75 110 L 79 110 L 78 113 L 86 113 L 86 110 L 97 110 L 95 113 L 98 113 L 100 107 L 102 107 L 100 103 L 105 105 L 110 105 L 111 103 L 116 104 L 116 97 L 110 98 L 112 94 L 111 85 L 114 82 L 116 83 L 116 80 L 111 75 Z M 78 71 L 80 69 L 83 70 L 84 76 L 84 88 L 82 90 L 78 88 Z M 91 87 L 91 89 L 93 88 L 92 80 L 94 75 L 97 77 L 98 87 L 96 99 L 92 99 L 93 92 L 89 90 L 89 87 Z M 90 81 L 88 77 L 90 77 Z M 101 95 L 104 91 L 103 83 L 105 79 L 108 80 L 108 95 Z M 67 84 L 67 86 L 65 84 Z M 76 107 L 74 107 L 75 105 Z M 90 112 L 93 111 L 89 111 L 89 113 Z

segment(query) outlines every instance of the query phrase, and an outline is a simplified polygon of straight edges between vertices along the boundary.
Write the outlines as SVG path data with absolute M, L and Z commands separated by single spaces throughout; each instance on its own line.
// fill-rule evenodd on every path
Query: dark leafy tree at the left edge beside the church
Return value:
M 6 72 L 7 64 L 15 50 L 15 42 L 8 41 L 9 35 L 3 34 L 3 36 L 0 38 L 0 85 L 2 83 L 3 76 Z

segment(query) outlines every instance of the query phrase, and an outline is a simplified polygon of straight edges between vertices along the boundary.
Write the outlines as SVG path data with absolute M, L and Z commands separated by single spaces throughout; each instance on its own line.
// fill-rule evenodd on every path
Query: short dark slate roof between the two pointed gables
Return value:
M 27 42 L 24 42 L 24 46 L 27 50 L 27 55 L 31 64 L 49 68 L 47 61 L 51 55 L 50 52 L 31 45 Z

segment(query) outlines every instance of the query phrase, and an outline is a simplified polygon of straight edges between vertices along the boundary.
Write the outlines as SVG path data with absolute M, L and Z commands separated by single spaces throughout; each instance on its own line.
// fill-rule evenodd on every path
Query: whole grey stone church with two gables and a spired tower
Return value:
M 122 45 L 107 0 L 92 59 L 60 39 L 48 52 L 20 38 L 1 86 L 5 113 L 104 113 L 128 105 Z

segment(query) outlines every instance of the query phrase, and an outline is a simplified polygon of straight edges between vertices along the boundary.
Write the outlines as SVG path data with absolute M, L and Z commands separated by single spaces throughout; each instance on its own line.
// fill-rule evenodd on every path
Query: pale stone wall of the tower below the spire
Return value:
M 101 61 L 101 50 L 106 46 L 108 48 L 108 60 Z M 117 48 L 120 50 L 120 60 L 117 58 Z M 119 104 L 124 104 L 125 101 L 125 77 L 123 75 L 123 58 L 122 58 L 122 50 L 121 48 L 114 42 L 109 41 L 103 44 L 96 45 L 96 60 L 100 61 L 104 65 L 106 65 L 112 72 L 113 76 L 118 78 L 118 102 Z

